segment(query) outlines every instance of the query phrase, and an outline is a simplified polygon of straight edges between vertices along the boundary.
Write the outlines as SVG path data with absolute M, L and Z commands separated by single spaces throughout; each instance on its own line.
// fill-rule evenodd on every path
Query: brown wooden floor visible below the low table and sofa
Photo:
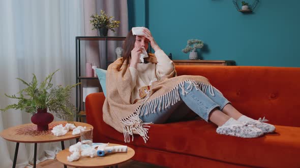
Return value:
M 54 159 L 54 160 L 45 160 L 39 164 L 37 164 L 37 168 L 52 168 L 52 167 L 55 167 L 55 168 L 63 168 L 64 165 L 59 162 L 58 160 Z M 68 166 L 69 167 L 72 167 L 72 166 Z M 154 165 L 154 164 L 149 164 L 149 163 L 144 163 L 144 162 L 138 162 L 138 161 L 134 161 L 134 160 L 128 160 L 122 164 L 119 164 L 118 167 L 120 168 L 125 168 L 125 167 L 130 167 L 130 168 L 140 168 L 140 167 L 143 167 L 143 168 L 163 168 L 162 166 L 158 166 L 158 165 Z M 74 167 L 72 167 L 74 168 Z

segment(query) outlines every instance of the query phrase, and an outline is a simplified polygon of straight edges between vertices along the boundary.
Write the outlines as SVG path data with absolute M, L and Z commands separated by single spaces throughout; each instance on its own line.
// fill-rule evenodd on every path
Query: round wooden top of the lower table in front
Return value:
M 108 146 L 116 146 L 118 144 L 108 144 Z M 80 157 L 76 161 L 68 161 L 67 156 L 71 155 L 71 152 L 68 149 L 62 150 L 56 155 L 56 159 L 59 162 L 64 163 L 65 165 L 75 166 L 75 167 L 102 167 L 110 166 L 122 163 L 131 159 L 134 156 L 135 152 L 132 148 L 127 148 L 127 153 L 112 153 L 107 154 L 103 157 Z

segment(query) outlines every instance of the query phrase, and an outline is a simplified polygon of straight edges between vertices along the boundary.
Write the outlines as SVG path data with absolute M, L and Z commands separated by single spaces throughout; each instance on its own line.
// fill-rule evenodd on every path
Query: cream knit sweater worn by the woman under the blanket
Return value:
M 160 80 L 161 77 L 170 74 L 174 70 L 172 60 L 164 53 L 163 50 L 158 50 L 155 53 L 157 64 L 138 63 L 137 68 L 129 67 L 132 77 L 131 88 L 131 103 L 139 99 L 139 89 L 144 86 L 149 86 L 153 81 Z

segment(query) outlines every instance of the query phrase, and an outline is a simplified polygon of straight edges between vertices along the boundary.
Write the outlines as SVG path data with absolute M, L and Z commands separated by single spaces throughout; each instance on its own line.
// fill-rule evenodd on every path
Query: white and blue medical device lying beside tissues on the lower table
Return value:
M 98 146 L 97 155 L 104 156 L 107 153 L 127 153 L 127 146 L 118 145 L 118 146 L 108 146 L 109 143 L 105 145 Z

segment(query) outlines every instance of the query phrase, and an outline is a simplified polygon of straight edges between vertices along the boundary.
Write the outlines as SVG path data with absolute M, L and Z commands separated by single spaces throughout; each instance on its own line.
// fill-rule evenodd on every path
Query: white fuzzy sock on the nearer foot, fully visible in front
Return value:
M 255 138 L 263 135 L 263 132 L 256 127 L 249 127 L 233 118 L 228 119 L 222 126 L 218 127 L 218 134 L 230 135 L 241 138 Z

